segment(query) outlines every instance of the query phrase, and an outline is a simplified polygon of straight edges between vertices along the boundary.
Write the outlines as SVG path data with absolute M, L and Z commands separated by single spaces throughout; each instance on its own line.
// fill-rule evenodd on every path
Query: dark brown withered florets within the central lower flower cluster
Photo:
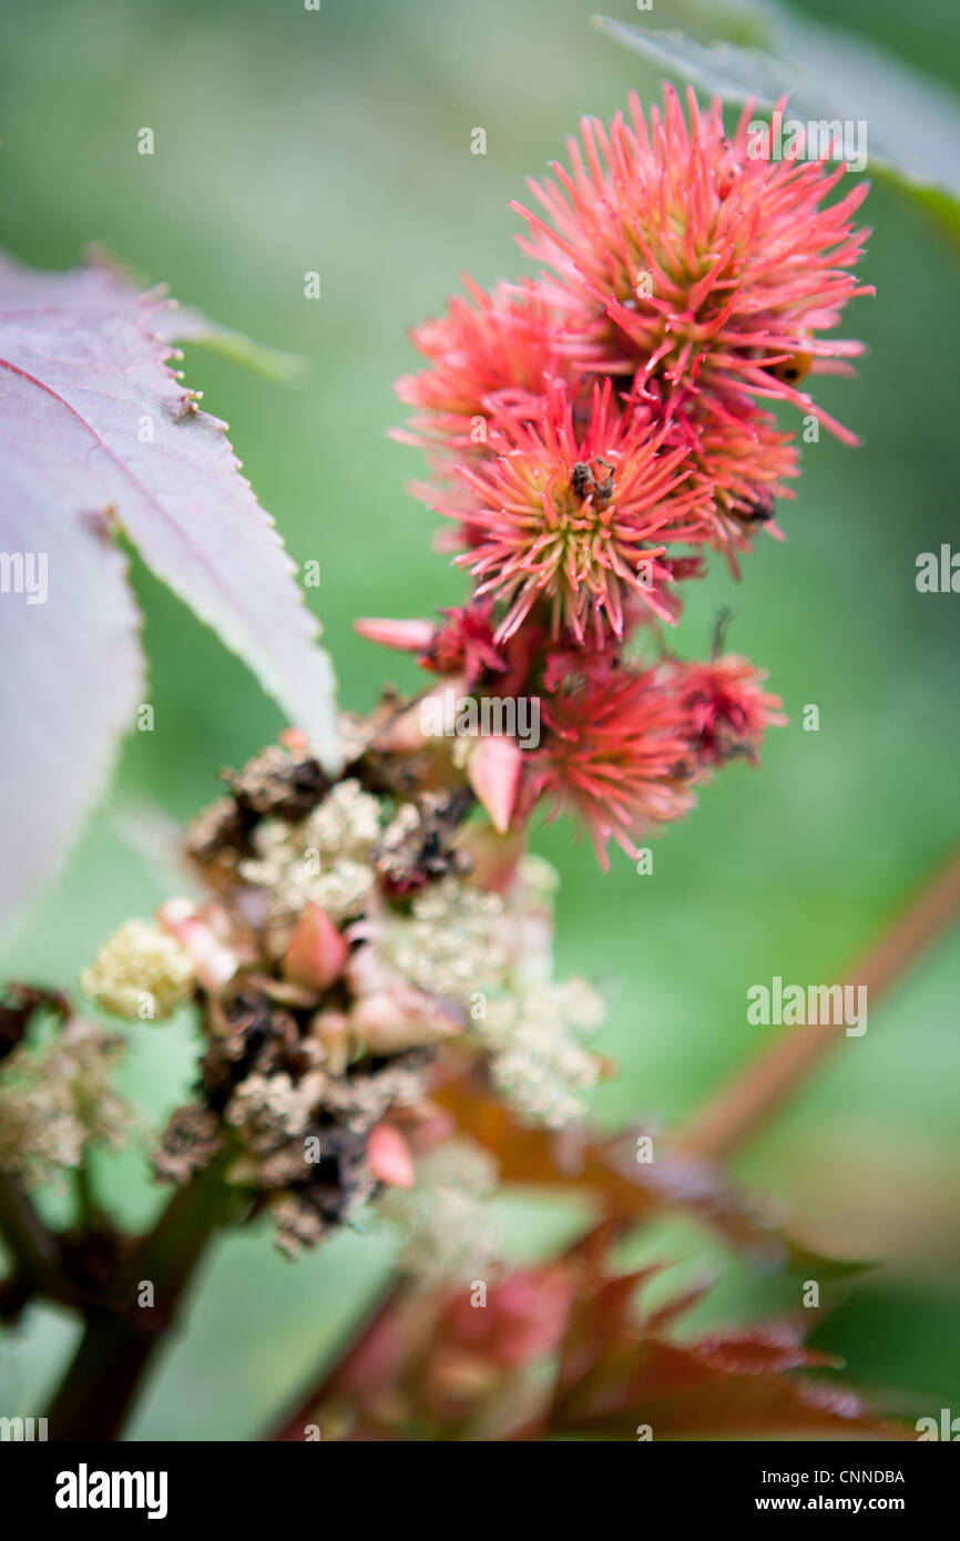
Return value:
M 339 783 L 330 783 L 296 749 L 262 750 L 242 770 L 225 772 L 233 795 L 208 807 L 190 832 L 190 855 L 220 897 L 210 925 L 230 925 L 237 968 L 223 988 L 205 986 L 197 1103 L 170 1120 L 156 1170 L 186 1182 L 230 1145 L 231 1180 L 256 1193 L 253 1213 L 271 1211 L 277 1244 L 291 1254 L 316 1245 L 379 1190 L 367 1156 L 370 1136 L 393 1114 L 416 1123 L 433 1049 L 371 1053 L 356 1025 L 357 980 L 347 972 L 322 989 L 300 989 L 304 999 L 296 999 L 297 986 L 285 972 L 291 928 L 307 901 L 319 900 L 308 900 L 307 891 L 300 895 L 294 885 L 293 914 L 279 928 L 268 906 L 260 912 L 251 905 L 259 888 L 273 894 L 276 908 L 273 848 L 259 831 L 282 848 L 287 826 L 294 869 L 300 835 L 304 860 L 313 846 L 321 861 L 334 861 L 331 871 L 336 860 L 348 865 L 356 857 L 384 898 L 422 892 L 467 872 L 470 857 L 455 840 L 473 794 L 430 787 L 428 757 L 387 743 L 371 747 L 378 727 L 384 730 L 405 707 L 402 698 L 387 695 L 365 724 L 357 721 L 354 757 L 347 757 Z M 385 829 L 382 803 L 365 806 L 371 794 L 387 794 L 398 804 Z M 324 809 L 330 829 L 317 823 Z M 361 835 L 364 849 L 354 852 L 345 840 L 356 843 Z M 259 881 L 253 881 L 257 861 Z M 378 988 L 384 985 L 373 988 L 374 999 Z

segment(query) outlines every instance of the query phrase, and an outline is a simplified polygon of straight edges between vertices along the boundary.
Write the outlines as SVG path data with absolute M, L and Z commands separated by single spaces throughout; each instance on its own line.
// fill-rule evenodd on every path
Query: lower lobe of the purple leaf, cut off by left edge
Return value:
M 49 421 L 52 411 L 39 402 L 32 431 L 79 441 L 80 427 L 65 433 Z M 9 592 L 0 593 L 0 923 L 60 866 L 143 698 L 126 559 L 80 518 L 39 496 L 32 455 L 20 450 L 0 411 L 0 562 L 8 559 L 9 573 Z M 62 475 L 66 495 L 66 461 Z

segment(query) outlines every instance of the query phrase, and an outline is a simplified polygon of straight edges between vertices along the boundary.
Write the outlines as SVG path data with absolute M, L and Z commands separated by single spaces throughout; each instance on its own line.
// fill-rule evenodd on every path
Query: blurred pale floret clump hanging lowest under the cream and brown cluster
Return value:
M 425 1287 L 473 1279 L 498 1257 L 499 1224 L 488 1200 L 496 1162 L 472 1140 L 451 1140 L 416 1163 L 415 1188 L 387 1188 L 378 1213 L 402 1236 L 399 1267 Z

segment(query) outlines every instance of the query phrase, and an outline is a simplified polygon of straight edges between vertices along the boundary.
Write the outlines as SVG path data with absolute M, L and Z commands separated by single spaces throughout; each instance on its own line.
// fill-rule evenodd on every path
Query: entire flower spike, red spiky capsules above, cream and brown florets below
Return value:
M 823 333 L 861 293 L 861 190 L 826 203 L 840 171 L 752 156 L 750 111 L 730 139 L 718 103 L 690 94 L 684 117 L 672 91 L 649 123 L 636 100 L 609 131 L 586 122 L 569 170 L 533 188 L 547 220 L 524 211 L 549 271 L 470 284 L 415 333 L 404 436 L 472 590 L 439 621 L 359 627 L 418 653 L 428 689 L 345 717 L 336 780 L 296 729 L 228 772 L 188 843 L 210 901 L 128 922 L 83 975 L 111 1016 L 193 1002 L 203 1053 L 157 1176 L 222 1160 L 290 1254 L 387 1194 L 405 1267 L 485 1267 L 496 1174 L 451 1143 L 450 1083 L 555 1131 L 607 1068 L 598 997 L 553 979 L 555 880 L 522 826 L 542 803 L 603 865 L 610 841 L 636 855 L 783 721 L 750 663 L 684 661 L 660 633 L 707 552 L 735 562 L 777 533 L 795 450 L 761 404 L 829 422 L 798 381 L 857 351 Z M 119 1126 L 116 1043 L 74 1023 L 29 1059 L 34 997 L 0 1009 L 0 1057 L 26 1082 L 9 1128 L 71 1165 Z

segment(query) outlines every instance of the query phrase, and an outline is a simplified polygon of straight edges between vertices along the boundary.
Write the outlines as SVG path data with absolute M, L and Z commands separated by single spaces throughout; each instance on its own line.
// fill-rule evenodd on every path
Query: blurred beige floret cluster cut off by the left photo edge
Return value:
M 89 1143 L 125 1145 L 134 1117 L 111 1085 L 122 1054 L 122 1039 L 80 1019 L 43 1048 L 14 1049 L 0 1083 L 0 1168 L 48 1179 L 79 1167 Z

